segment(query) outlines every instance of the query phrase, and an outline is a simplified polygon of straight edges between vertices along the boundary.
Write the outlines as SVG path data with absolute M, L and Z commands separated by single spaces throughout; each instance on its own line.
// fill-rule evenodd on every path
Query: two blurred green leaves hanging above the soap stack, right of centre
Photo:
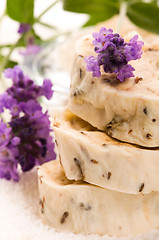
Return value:
M 85 26 L 106 20 L 120 11 L 121 0 L 64 0 L 64 9 L 71 12 L 86 13 L 90 18 Z M 137 26 L 159 33 L 159 6 L 157 0 L 127 0 L 127 16 Z

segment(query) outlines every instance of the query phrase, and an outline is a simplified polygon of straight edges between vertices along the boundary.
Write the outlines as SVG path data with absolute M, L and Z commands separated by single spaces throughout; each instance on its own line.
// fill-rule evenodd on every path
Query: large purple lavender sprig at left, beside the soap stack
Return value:
M 41 96 L 50 99 L 53 91 L 50 80 L 38 86 L 18 66 L 7 69 L 5 76 L 13 84 L 0 95 L 0 113 L 11 113 L 7 124 L 0 122 L 0 178 L 18 181 L 18 165 L 25 172 L 56 157 L 49 117 L 38 102 Z

